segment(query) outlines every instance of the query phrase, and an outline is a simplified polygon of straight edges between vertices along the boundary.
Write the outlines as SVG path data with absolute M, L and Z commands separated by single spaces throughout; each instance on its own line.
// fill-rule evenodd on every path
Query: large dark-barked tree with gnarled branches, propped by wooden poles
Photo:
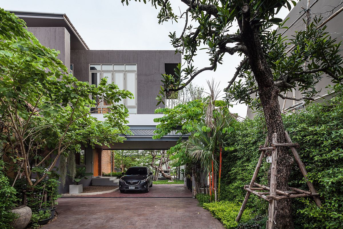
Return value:
M 304 95 L 301 99 L 311 100 L 317 93 L 315 84 L 323 76 L 333 82 L 342 82 L 340 44 L 330 38 L 325 26 L 319 26 L 319 20 L 288 40 L 277 31 L 271 31 L 273 24 L 282 26 L 282 20 L 275 18 L 277 12 L 282 7 L 291 9 L 295 1 L 180 0 L 186 6 L 183 12 L 173 11 L 169 0 L 149 2 L 160 9 L 159 23 L 185 20 L 179 34 L 169 35 L 176 51 L 183 54 L 184 65 L 176 69 L 174 76 L 163 76 L 161 95 L 157 98 L 161 102 L 165 92 L 181 90 L 201 72 L 215 70 L 218 64 L 223 64 L 225 54 L 243 55 L 237 71 L 228 79 L 228 97 L 260 106 L 269 139 L 277 133 L 277 141 L 286 142 L 278 98 L 293 99 L 284 93 L 298 88 Z M 129 0 L 122 0 L 122 3 L 129 4 Z M 198 69 L 192 60 L 203 46 L 207 49 L 210 65 Z M 286 148 L 279 148 L 277 161 L 277 189 L 288 191 L 293 159 Z M 277 202 L 275 221 L 275 228 L 293 228 L 289 199 Z

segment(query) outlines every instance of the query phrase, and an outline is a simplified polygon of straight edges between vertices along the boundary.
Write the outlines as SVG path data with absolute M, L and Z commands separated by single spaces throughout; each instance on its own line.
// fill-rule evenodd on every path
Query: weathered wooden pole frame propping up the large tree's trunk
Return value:
M 298 146 L 299 144 L 293 143 L 291 141 L 291 138 L 289 138 L 288 133 L 285 131 L 285 139 L 287 143 L 277 143 L 277 134 L 273 134 L 272 139 L 272 146 L 268 147 L 268 137 L 265 140 L 264 146 L 259 147 L 259 151 L 261 151 L 261 156 L 257 162 L 256 169 L 254 174 L 252 175 L 252 179 L 249 185 L 245 185 L 244 189 L 247 190 L 247 194 L 245 195 L 244 201 L 242 203 L 242 206 L 239 210 L 238 216 L 236 218 L 236 221 L 239 222 L 240 218 L 243 215 L 243 211 L 248 203 L 248 199 L 250 196 L 250 193 L 255 194 L 259 196 L 260 198 L 264 199 L 265 201 L 269 202 L 269 209 L 268 209 L 268 221 L 267 221 L 267 229 L 273 229 L 275 224 L 275 207 L 276 207 L 276 201 L 280 199 L 288 199 L 288 198 L 298 198 L 298 197 L 308 197 L 312 196 L 314 198 L 315 203 L 318 207 L 321 205 L 321 201 L 318 198 L 319 194 L 317 193 L 315 187 L 313 186 L 312 182 L 310 182 L 307 178 L 307 171 L 305 168 L 304 163 L 301 161 L 299 154 L 297 150 L 295 149 L 295 146 Z M 277 147 L 289 147 L 293 153 L 293 156 L 295 158 L 295 161 L 297 162 L 301 173 L 303 174 L 307 186 L 309 188 L 309 191 L 301 190 L 298 188 L 289 188 L 291 191 L 281 191 L 276 189 L 276 159 L 277 159 Z M 258 172 L 261 168 L 262 160 L 265 155 L 266 150 L 272 150 L 272 164 L 271 164 L 271 174 L 270 174 L 270 187 L 261 185 L 255 182 Z M 258 192 L 263 191 L 263 192 Z

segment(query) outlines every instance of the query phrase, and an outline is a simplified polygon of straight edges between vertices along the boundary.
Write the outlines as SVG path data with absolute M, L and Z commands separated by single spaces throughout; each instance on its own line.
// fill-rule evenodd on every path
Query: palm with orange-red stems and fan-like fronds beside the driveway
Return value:
M 228 110 L 227 105 L 216 106 L 219 103 L 218 85 L 213 81 L 208 81 L 210 95 L 205 108 L 205 122 L 199 122 L 193 126 L 193 133 L 185 142 L 186 153 L 194 162 L 200 162 L 202 168 L 208 169 L 210 180 L 210 195 L 211 200 L 216 199 L 214 177 L 218 174 L 218 199 L 220 197 L 220 180 L 222 167 L 222 148 L 225 146 L 223 135 L 234 130 L 232 125 L 235 122 L 235 116 Z M 221 103 L 223 104 L 223 103 Z M 219 167 L 217 157 L 217 149 L 219 148 Z M 197 190 L 198 191 L 198 190 Z

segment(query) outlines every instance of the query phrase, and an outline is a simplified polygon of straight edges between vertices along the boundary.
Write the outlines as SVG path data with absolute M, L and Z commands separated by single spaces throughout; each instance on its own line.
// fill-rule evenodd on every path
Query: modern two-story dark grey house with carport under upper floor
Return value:
M 122 101 L 130 113 L 129 126 L 133 133 L 123 143 L 111 144 L 111 148 L 98 146 L 96 149 L 84 146 L 76 153 L 76 164 L 85 166 L 94 176 L 111 172 L 110 149 L 169 149 L 180 136 L 171 134 L 153 140 L 156 123 L 153 119 L 162 115 L 154 114 L 156 95 L 161 85 L 161 74 L 173 73 L 181 62 L 181 55 L 174 50 L 90 50 L 71 21 L 65 14 L 11 11 L 27 24 L 44 46 L 60 51 L 58 58 L 80 81 L 97 83 L 107 77 L 108 83 L 116 83 L 120 89 L 133 93 L 134 99 Z M 106 102 L 99 104 L 101 111 L 93 116 L 103 120 L 108 112 Z M 162 106 L 160 104 L 159 106 Z M 90 108 L 91 111 L 94 108 Z M 84 186 L 92 179 L 83 180 Z M 70 180 L 60 192 L 68 192 Z

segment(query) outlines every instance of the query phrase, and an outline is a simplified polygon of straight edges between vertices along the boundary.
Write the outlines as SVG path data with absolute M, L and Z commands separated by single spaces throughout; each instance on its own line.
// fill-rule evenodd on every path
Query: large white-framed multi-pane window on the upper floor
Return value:
M 120 90 L 130 91 L 134 99 L 123 99 L 118 104 L 124 104 L 130 114 L 137 114 L 137 64 L 90 64 L 89 83 L 98 85 L 101 79 L 106 78 L 107 83 L 115 83 Z M 95 99 L 95 98 L 93 98 Z M 97 111 L 91 107 L 92 113 L 104 114 L 109 112 L 111 101 L 98 102 Z

